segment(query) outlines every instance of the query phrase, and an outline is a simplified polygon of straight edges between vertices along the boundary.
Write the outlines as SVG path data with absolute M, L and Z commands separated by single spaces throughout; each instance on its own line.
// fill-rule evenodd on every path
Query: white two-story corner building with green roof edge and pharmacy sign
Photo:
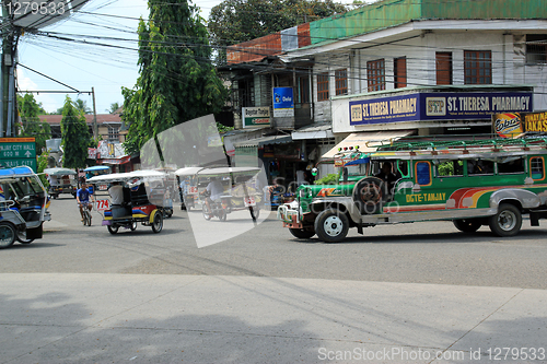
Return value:
M 492 114 L 545 110 L 546 67 L 543 0 L 384 0 L 232 46 L 220 70 L 236 127 L 268 126 L 232 137 L 236 163 L 256 153 L 291 178 L 339 148 L 491 132 Z M 269 114 L 247 127 L 246 108 Z M 277 139 L 292 148 L 280 157 Z

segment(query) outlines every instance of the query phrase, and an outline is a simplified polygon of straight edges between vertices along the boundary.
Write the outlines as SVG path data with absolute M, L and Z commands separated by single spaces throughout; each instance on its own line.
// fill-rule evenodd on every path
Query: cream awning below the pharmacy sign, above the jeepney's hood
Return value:
M 324 158 L 334 158 L 335 154 L 338 153 L 338 149 L 341 148 L 350 148 L 358 146 L 361 152 L 374 152 L 377 145 L 370 145 L 374 142 L 389 142 L 397 140 L 403 137 L 410 136 L 414 130 L 386 130 L 386 131 L 363 131 L 363 132 L 353 132 L 346 137 L 341 142 L 339 142 L 335 148 L 323 154 Z M 370 146 L 366 145 L 369 143 Z

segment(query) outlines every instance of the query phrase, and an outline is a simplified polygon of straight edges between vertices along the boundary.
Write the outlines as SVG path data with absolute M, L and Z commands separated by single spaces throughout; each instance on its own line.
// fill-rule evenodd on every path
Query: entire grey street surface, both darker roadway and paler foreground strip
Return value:
M 198 248 L 193 227 L 225 237 L 248 216 L 175 210 L 160 234 L 112 236 L 96 213 L 82 226 L 73 199 L 50 210 L 42 240 L 0 250 L 1 364 L 547 363 L 543 226 L 500 239 L 416 223 L 323 244 L 270 214 Z

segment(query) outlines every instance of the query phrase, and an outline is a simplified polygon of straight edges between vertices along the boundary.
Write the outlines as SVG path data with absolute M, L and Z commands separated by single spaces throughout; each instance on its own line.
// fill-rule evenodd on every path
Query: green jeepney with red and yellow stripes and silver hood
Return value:
M 317 234 L 340 242 L 349 227 L 451 220 L 459 231 L 489 225 L 498 236 L 516 235 L 522 215 L 533 226 L 547 218 L 547 137 L 423 140 L 340 153 L 338 185 L 309 185 L 278 219 L 299 238 Z M 383 163 L 392 180 L 375 177 Z

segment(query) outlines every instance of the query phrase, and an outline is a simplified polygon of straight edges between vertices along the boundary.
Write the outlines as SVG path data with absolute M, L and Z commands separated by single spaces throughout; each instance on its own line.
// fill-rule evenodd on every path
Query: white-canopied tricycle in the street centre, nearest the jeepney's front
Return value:
M 217 216 L 221 221 L 225 221 L 226 215 L 232 211 L 248 209 L 251 218 L 256 221 L 260 214 L 260 206 L 264 204 L 261 189 L 256 186 L 257 180 L 260 179 L 260 172 L 261 169 L 258 167 L 219 167 L 199 171 L 196 174 L 199 180 L 220 178 L 224 188 L 220 201 L 211 203 L 209 200 L 210 209 L 207 203 L 203 203 L 203 218 L 210 220 L 212 216 Z M 222 211 L 214 212 L 219 209 Z

